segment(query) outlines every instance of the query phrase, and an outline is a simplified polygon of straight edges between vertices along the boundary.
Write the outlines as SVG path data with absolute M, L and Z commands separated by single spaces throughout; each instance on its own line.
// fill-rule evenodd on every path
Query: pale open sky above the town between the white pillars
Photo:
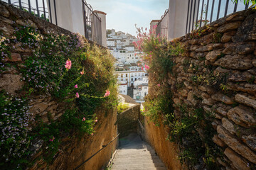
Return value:
M 137 35 L 134 24 L 149 28 L 169 8 L 169 0 L 86 0 L 94 10 L 107 13 L 107 29 Z

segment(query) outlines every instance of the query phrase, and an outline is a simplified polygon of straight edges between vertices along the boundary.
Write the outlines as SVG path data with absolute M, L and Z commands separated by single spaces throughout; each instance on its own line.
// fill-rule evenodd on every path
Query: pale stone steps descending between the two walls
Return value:
M 137 134 L 119 140 L 112 170 L 166 170 L 161 159 Z

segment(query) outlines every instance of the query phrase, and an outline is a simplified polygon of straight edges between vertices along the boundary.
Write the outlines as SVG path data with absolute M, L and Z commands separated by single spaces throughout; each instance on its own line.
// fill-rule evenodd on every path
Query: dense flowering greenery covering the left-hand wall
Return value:
M 55 121 L 52 113 L 47 113 L 50 123 L 43 123 L 41 118 L 36 118 L 36 128 L 28 131 L 28 120 L 31 117 L 26 97 L 14 97 L 1 92 L 0 123 L 7 136 L 3 135 L 5 138 L 0 142 L 4 155 L 1 162 L 5 162 L 0 167 L 7 169 L 4 166 L 11 164 L 15 169 L 28 165 L 28 162 L 21 161 L 31 154 L 28 147 L 31 140 L 36 139 L 44 141 L 43 159 L 50 164 L 59 152 L 63 137 L 92 134 L 97 123 L 97 109 L 117 106 L 114 59 L 107 49 L 87 42 L 81 35 L 41 34 L 31 26 L 23 26 L 16 27 L 11 38 L 0 38 L 2 60 L 9 57 L 12 43 L 21 42 L 21 49 L 33 50 L 32 55 L 23 60 L 23 66 L 17 66 L 25 81 L 22 95 L 51 96 L 58 103 L 63 103 L 65 108 L 65 113 Z M 68 60 L 71 61 L 70 69 L 65 68 Z M 5 63 L 3 69 L 6 69 L 7 64 L 9 63 Z M 110 96 L 104 97 L 107 90 L 110 91 Z M 9 125 L 18 130 L 12 136 L 6 132 Z

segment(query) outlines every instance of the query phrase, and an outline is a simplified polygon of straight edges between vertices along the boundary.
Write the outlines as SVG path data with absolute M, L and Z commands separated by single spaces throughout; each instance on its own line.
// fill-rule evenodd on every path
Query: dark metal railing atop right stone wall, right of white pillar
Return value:
M 250 4 L 241 1 L 233 3 L 231 0 L 188 0 L 186 19 L 186 33 L 201 28 L 218 18 L 227 16 L 236 11 L 247 9 Z

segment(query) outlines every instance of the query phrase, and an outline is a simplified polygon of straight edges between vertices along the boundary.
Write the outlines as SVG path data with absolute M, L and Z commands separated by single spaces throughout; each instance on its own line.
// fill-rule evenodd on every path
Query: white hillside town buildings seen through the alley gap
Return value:
M 148 94 L 148 75 L 142 67 L 143 55 L 133 42 L 137 38 L 122 31 L 107 30 L 107 47 L 115 59 L 115 75 L 119 84 L 119 94 L 128 95 L 138 103 L 144 102 Z

